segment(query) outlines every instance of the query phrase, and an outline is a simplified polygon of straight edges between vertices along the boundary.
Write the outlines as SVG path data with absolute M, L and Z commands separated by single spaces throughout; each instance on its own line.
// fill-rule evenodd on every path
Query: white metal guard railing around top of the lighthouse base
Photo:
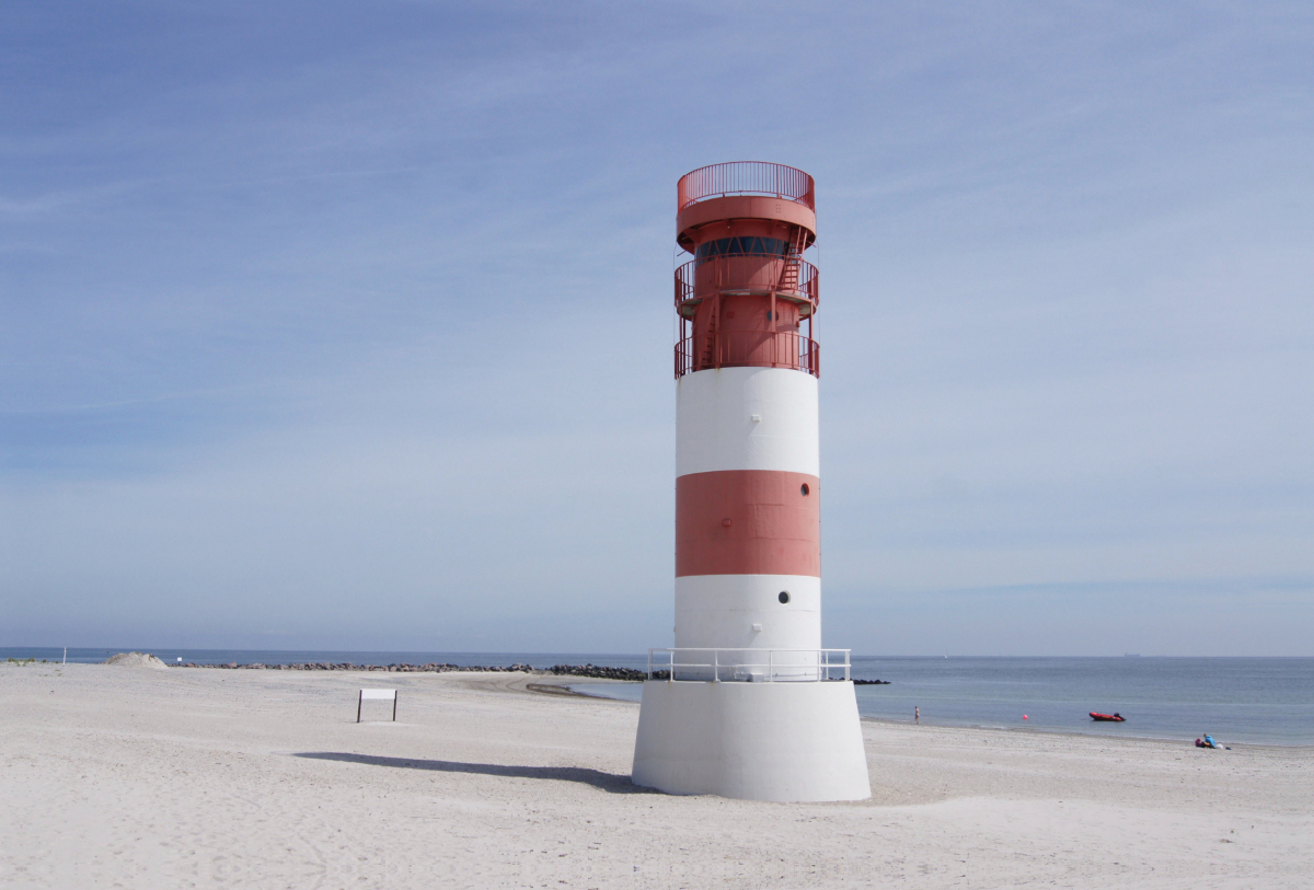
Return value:
M 848 680 L 850 651 L 848 648 L 649 648 L 648 679 L 673 683 Z

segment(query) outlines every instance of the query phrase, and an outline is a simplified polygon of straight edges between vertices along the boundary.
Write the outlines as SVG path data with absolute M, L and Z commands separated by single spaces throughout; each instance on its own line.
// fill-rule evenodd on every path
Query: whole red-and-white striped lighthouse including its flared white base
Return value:
M 649 651 L 633 781 L 867 798 L 849 652 L 821 648 L 812 177 L 696 169 L 675 232 L 675 646 Z

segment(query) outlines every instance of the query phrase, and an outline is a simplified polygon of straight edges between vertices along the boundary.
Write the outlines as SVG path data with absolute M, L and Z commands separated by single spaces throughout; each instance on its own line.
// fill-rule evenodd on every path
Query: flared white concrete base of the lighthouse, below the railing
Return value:
M 749 801 L 871 797 L 851 683 L 644 683 L 633 782 Z

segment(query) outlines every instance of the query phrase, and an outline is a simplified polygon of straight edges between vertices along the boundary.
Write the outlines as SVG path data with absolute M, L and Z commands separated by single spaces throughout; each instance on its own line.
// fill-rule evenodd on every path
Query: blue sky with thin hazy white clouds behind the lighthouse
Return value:
M 0 11 L 0 646 L 671 645 L 675 182 L 817 182 L 824 645 L 1314 655 L 1307 3 Z

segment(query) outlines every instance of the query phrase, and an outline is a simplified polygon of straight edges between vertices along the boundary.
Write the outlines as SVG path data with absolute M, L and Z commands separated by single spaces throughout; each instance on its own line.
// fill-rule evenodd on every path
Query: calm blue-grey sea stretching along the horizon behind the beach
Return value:
M 130 647 L 70 648 L 68 660 L 99 663 Z M 606 652 L 353 652 L 143 648 L 168 663 L 461 666 L 598 664 L 643 669 L 646 655 Z M 57 662 L 60 648 L 0 647 L 5 659 Z M 863 717 L 911 723 L 913 709 L 932 726 L 1020 732 L 1080 732 L 1193 740 L 1209 732 L 1227 743 L 1314 746 L 1314 658 L 970 658 L 853 656 Z M 0 675 L 3 676 L 3 675 Z M 577 692 L 639 701 L 641 684 L 581 681 Z M 1122 723 L 1089 711 L 1120 713 Z

